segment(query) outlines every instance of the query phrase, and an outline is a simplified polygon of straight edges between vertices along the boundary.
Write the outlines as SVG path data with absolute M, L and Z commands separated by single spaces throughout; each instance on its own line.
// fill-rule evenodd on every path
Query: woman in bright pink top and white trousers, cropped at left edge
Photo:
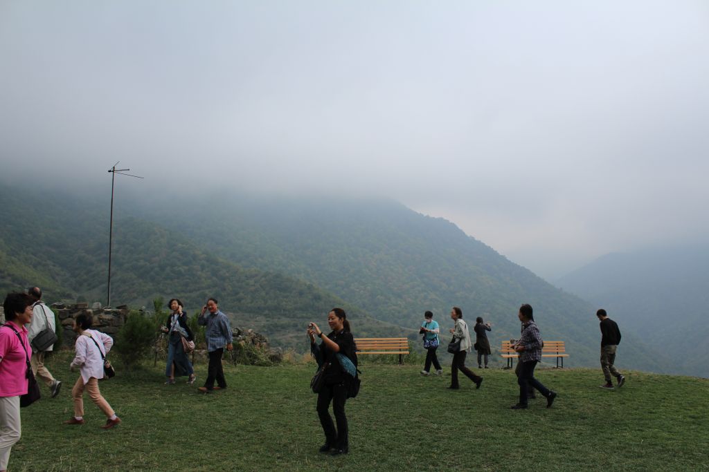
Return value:
M 6 323 L 0 328 L 0 471 L 7 470 L 12 447 L 20 440 L 20 396 L 27 393 L 28 359 L 32 347 L 25 325 L 32 321 L 34 300 L 8 294 L 3 304 Z

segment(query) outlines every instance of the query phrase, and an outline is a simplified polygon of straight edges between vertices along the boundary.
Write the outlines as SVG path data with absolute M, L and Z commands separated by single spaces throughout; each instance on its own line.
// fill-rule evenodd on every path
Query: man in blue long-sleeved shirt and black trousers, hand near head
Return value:
M 205 313 L 209 311 L 208 314 Z M 231 326 L 229 318 L 219 310 L 219 302 L 215 298 L 208 299 L 207 304 L 202 307 L 199 313 L 197 324 L 206 326 L 204 333 L 207 340 L 207 352 L 209 355 L 209 367 L 207 368 L 207 379 L 204 386 L 197 390 L 208 393 L 213 390 L 226 388 L 226 379 L 222 369 L 221 358 L 224 354 L 224 347 L 228 351 L 233 350 Z M 216 380 L 218 386 L 214 386 Z

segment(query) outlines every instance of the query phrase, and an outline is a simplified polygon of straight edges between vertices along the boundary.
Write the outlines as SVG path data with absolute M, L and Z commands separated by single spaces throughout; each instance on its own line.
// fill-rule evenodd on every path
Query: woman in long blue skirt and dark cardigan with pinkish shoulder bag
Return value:
M 187 341 L 193 340 L 192 330 L 187 325 L 187 313 L 182 311 L 182 301 L 172 299 L 168 302 L 172 313 L 167 317 L 167 323 L 160 328 L 163 333 L 167 333 L 167 366 L 165 367 L 165 376 L 167 381 L 165 385 L 175 383 L 175 376 L 189 375 L 187 384 L 194 384 L 194 368 L 189 362 L 189 357 L 184 350 L 182 338 Z

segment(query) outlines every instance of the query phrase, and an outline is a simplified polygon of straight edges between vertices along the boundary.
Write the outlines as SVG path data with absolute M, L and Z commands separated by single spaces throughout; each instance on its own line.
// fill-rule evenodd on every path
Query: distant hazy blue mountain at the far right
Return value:
M 709 245 L 604 255 L 557 285 L 593 301 L 646 340 L 648 356 L 667 357 L 666 372 L 709 377 Z

